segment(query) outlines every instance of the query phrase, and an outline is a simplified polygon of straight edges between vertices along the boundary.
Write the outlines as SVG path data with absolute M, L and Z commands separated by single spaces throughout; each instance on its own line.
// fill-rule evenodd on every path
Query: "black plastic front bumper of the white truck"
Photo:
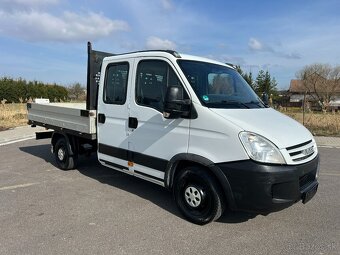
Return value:
M 244 160 L 216 165 L 227 177 L 234 210 L 270 213 L 316 193 L 319 156 L 301 165 L 269 165 Z

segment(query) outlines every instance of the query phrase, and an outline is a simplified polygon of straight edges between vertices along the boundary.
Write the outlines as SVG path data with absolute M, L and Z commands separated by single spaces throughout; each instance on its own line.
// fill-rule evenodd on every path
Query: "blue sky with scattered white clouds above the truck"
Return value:
M 91 41 L 269 70 L 287 89 L 305 65 L 340 64 L 339 10 L 338 0 L 0 0 L 0 76 L 85 85 Z

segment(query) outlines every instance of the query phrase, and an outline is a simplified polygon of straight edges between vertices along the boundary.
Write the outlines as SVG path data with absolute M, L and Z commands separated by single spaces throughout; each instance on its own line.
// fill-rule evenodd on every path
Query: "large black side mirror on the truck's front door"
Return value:
M 191 100 L 184 99 L 183 88 L 169 86 L 164 100 L 163 116 L 166 119 L 177 119 L 181 116 L 189 116 Z

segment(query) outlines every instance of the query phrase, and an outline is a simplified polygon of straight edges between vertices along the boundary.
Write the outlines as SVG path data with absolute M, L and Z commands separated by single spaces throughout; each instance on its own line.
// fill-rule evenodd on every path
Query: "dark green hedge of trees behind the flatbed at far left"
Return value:
M 57 84 L 25 79 L 0 78 L 0 100 L 7 103 L 22 103 L 34 98 L 48 98 L 51 102 L 66 101 L 68 90 Z

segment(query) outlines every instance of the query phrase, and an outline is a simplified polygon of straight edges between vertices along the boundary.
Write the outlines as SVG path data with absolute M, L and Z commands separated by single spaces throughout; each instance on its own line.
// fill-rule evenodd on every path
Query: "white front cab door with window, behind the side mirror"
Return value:
M 130 99 L 133 125 L 129 126 L 133 171 L 138 177 L 163 184 L 169 160 L 188 150 L 189 119 L 163 117 L 167 87 L 183 85 L 176 69 L 165 58 L 139 59 L 135 76 Z

